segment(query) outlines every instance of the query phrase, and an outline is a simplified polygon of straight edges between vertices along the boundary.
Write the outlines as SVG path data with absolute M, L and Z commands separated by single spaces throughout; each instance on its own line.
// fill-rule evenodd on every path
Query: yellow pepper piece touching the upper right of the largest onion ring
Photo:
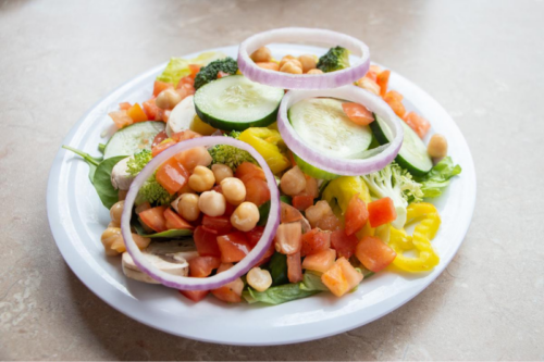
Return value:
M 287 157 L 282 152 L 283 139 L 275 129 L 251 127 L 244 130 L 238 139 L 252 146 L 259 152 L 272 173 L 277 174 L 290 165 Z

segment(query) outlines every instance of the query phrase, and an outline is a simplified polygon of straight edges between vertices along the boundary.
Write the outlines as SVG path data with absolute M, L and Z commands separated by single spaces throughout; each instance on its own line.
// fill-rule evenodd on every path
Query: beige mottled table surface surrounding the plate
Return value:
M 0 1 L 0 359 L 544 359 L 543 1 Z M 54 154 L 111 89 L 171 55 L 282 26 L 363 39 L 431 93 L 478 174 L 465 244 L 421 295 L 358 329 L 286 347 L 146 327 L 63 261 L 46 214 Z

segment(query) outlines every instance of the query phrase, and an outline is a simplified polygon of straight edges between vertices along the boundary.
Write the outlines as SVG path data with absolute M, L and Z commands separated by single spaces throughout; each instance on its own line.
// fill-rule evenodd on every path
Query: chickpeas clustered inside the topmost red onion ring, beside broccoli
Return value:
M 318 70 L 317 57 L 312 54 L 304 54 L 298 58 L 293 55 L 285 55 L 282 58 L 280 63 L 276 63 L 272 59 L 272 52 L 267 47 L 261 47 L 257 49 L 251 55 L 251 60 L 257 64 L 257 66 L 283 72 L 290 74 L 322 74 L 321 70 Z

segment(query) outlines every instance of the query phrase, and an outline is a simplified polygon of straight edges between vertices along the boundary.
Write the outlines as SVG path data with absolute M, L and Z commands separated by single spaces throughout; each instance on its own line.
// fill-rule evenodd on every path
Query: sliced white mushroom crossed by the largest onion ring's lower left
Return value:
M 147 258 L 159 270 L 180 276 L 187 276 L 189 274 L 188 261 L 198 255 L 195 248 L 188 246 L 185 241 L 166 241 L 153 242 L 146 250 L 143 250 L 145 258 Z M 141 272 L 134 263 L 133 258 L 128 252 L 124 252 L 122 257 L 123 273 L 125 276 L 144 283 L 160 284 L 146 273 Z

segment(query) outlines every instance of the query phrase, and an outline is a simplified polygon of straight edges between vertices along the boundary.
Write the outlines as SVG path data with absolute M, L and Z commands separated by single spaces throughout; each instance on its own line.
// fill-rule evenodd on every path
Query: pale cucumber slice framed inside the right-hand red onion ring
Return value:
M 347 159 L 368 150 L 372 132 L 350 121 L 342 103 L 333 98 L 305 99 L 289 109 L 288 117 L 298 136 L 316 152 Z

